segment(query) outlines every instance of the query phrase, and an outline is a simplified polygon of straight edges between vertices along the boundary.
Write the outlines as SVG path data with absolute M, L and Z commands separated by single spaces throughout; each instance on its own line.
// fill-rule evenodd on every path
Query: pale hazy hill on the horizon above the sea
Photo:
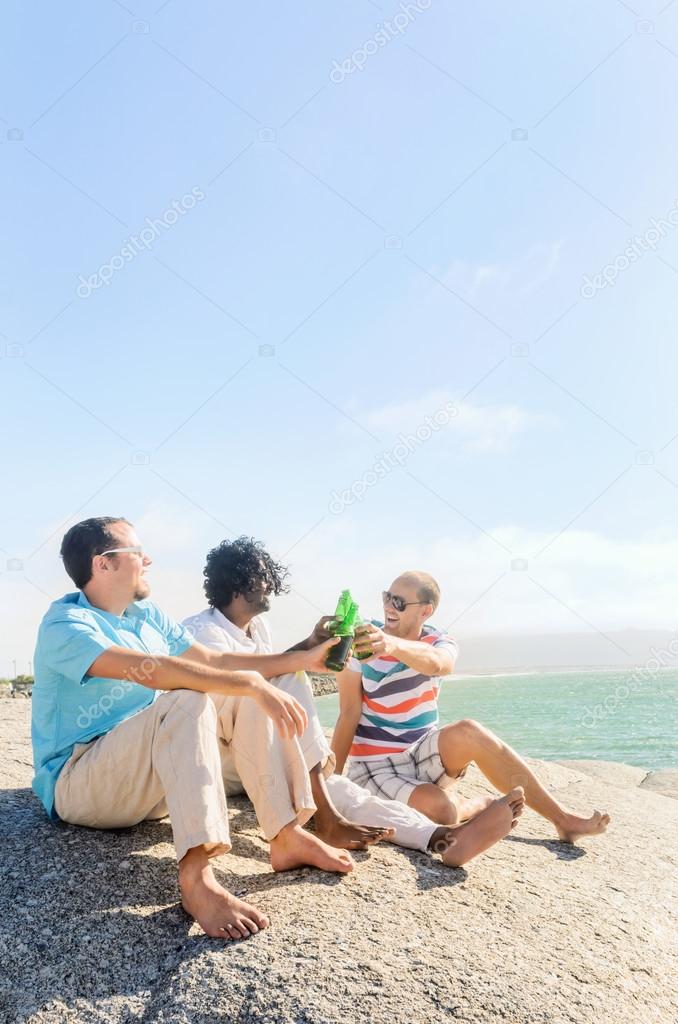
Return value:
M 656 657 L 678 667 L 678 634 L 668 630 L 553 633 L 520 636 L 459 635 L 461 673 L 519 669 L 630 668 Z M 654 663 L 651 663 L 653 667 Z

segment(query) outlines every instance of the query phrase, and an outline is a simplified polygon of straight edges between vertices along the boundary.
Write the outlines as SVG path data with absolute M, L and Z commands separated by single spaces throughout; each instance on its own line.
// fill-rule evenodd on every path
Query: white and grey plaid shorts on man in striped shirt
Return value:
M 376 797 L 407 804 L 418 785 L 432 782 L 442 788 L 454 779 L 446 773 L 438 754 L 439 729 L 431 729 L 412 746 L 378 761 L 349 761 L 348 777 Z M 463 773 L 462 773 L 463 774 Z

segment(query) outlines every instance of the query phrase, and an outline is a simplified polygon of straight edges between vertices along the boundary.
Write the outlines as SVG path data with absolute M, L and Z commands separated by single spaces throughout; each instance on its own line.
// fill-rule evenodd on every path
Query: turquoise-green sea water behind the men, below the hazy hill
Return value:
M 316 700 L 332 728 L 336 694 Z M 440 723 L 474 718 L 527 757 L 593 758 L 678 768 L 678 670 L 453 677 L 440 690 Z

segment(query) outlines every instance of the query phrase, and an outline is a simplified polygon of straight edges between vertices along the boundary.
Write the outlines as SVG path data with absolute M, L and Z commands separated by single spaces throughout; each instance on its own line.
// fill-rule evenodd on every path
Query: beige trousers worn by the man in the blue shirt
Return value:
M 170 690 L 111 732 L 76 745 L 55 810 L 71 824 L 121 828 L 169 813 L 176 856 L 230 849 L 224 780 L 237 777 L 267 840 L 313 814 L 298 740 L 281 739 L 250 697 Z

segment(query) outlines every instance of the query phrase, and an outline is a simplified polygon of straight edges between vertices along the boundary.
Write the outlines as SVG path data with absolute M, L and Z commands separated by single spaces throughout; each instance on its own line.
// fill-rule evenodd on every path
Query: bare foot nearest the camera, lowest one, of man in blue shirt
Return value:
M 183 909 L 214 939 L 249 939 L 268 928 L 265 914 L 219 885 L 200 847 L 189 850 L 181 860 L 179 888 Z

